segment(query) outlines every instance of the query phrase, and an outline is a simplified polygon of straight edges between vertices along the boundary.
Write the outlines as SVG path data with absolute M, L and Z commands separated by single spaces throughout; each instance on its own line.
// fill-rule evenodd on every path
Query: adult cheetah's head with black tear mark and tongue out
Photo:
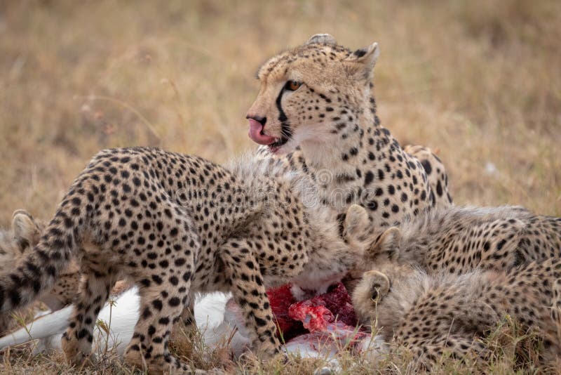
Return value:
M 367 106 L 378 55 L 376 43 L 353 52 L 316 34 L 271 58 L 257 72 L 261 88 L 248 110 L 250 138 L 279 153 L 333 144 Z

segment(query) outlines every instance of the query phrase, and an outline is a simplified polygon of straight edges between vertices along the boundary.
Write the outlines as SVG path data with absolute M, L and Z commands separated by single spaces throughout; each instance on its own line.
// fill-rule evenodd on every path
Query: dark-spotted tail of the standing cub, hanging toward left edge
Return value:
M 22 258 L 18 268 L 0 276 L 0 313 L 23 307 L 53 287 L 79 248 L 85 211 L 77 197 L 62 201 L 39 243 Z

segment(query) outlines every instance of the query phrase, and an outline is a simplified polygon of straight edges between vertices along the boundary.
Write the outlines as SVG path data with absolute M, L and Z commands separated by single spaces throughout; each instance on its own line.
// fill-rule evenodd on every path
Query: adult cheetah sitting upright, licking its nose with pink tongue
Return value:
M 437 202 L 448 206 L 452 198 L 440 161 L 438 176 L 434 169 L 434 178 L 427 178 L 419 159 L 380 125 L 371 93 L 378 56 L 377 43 L 351 51 L 329 34 L 313 35 L 259 67 L 261 87 L 246 117 L 262 157 L 309 173 L 320 203 L 339 221 L 359 204 L 381 232 Z M 428 160 L 426 166 L 438 160 L 428 149 L 410 152 Z M 434 189 L 431 181 L 437 181 Z

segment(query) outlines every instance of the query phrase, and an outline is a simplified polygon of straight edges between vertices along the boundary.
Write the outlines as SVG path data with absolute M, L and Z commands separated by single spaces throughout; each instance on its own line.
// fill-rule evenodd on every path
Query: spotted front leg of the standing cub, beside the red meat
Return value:
M 220 255 L 231 282 L 234 300 L 241 307 L 245 325 L 257 353 L 271 357 L 280 353 L 276 324 L 265 292 L 259 263 L 245 240 L 232 239 L 222 246 Z

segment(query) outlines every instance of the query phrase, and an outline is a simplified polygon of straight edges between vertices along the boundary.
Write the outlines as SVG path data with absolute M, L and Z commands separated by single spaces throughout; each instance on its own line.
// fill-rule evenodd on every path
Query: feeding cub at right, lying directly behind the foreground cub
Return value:
M 427 272 L 508 270 L 561 258 L 561 218 L 534 215 L 520 206 L 452 206 L 388 228 L 369 247 L 365 270 L 387 259 Z

